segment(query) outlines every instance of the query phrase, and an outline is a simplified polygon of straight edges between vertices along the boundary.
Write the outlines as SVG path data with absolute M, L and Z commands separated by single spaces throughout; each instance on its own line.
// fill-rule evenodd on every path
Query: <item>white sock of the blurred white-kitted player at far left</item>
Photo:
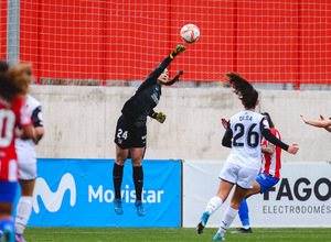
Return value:
M 23 196 L 20 198 L 17 208 L 15 233 L 23 234 L 32 212 L 32 197 Z

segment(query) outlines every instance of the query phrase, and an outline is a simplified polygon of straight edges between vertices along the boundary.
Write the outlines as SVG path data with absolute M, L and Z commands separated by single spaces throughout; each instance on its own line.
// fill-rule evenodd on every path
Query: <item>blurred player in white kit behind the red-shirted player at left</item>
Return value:
M 17 207 L 15 237 L 18 242 L 25 242 L 23 232 L 30 219 L 33 201 L 33 188 L 36 178 L 35 144 L 44 134 L 42 106 L 39 100 L 30 95 L 25 96 L 26 109 L 33 122 L 34 136 L 30 140 L 15 140 L 15 150 L 19 158 L 19 180 L 21 198 Z

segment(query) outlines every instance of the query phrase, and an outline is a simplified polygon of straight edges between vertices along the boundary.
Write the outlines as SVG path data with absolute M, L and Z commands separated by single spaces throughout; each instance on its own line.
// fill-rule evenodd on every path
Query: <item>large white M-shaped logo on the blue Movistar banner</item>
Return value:
M 64 193 L 66 190 L 71 191 L 71 206 L 76 204 L 76 185 L 74 177 L 66 173 L 63 175 L 60 180 L 58 188 L 55 193 L 51 191 L 49 185 L 43 178 L 38 178 L 35 180 L 35 187 L 33 191 L 33 210 L 35 213 L 40 212 L 40 208 L 38 205 L 38 196 L 43 200 L 46 209 L 50 212 L 55 212 L 61 208 Z

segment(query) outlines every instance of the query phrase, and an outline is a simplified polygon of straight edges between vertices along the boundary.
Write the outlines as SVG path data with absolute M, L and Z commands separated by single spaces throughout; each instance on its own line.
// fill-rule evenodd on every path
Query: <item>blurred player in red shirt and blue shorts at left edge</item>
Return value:
M 30 75 L 29 66 L 9 68 L 4 62 L 0 62 L 0 240 L 9 242 L 15 241 L 11 216 L 19 173 L 14 139 L 33 138 L 31 117 L 24 102 Z M 17 127 L 21 128 L 21 132 L 15 131 Z

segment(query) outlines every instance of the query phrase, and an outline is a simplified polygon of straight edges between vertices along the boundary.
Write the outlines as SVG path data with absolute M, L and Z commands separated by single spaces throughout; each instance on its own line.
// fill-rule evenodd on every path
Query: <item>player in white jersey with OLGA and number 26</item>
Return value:
M 206 206 L 197 224 L 197 233 L 202 233 L 210 216 L 226 200 L 233 186 L 235 190 L 227 207 L 223 221 L 214 240 L 224 240 L 223 235 L 238 213 L 243 199 L 252 189 L 260 167 L 260 139 L 261 135 L 282 150 L 296 154 L 297 144 L 287 145 L 271 134 L 266 118 L 255 112 L 258 105 L 258 92 L 239 75 L 229 73 L 225 75 L 234 92 L 238 95 L 245 110 L 233 116 L 227 124 L 222 144 L 232 147 L 224 166 L 220 173 L 220 187 L 215 197 Z

